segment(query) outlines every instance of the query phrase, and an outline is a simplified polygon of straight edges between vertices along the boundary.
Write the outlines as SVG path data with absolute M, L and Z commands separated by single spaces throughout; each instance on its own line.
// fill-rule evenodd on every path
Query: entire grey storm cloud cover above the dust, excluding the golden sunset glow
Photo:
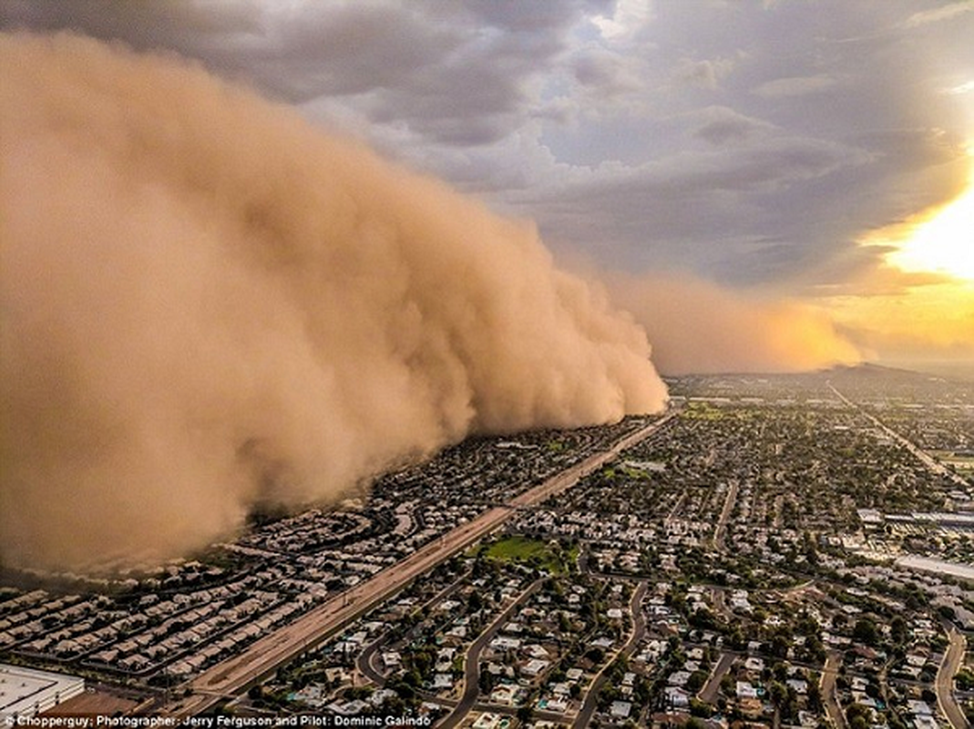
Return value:
M 647 13 L 638 5 L 8 0 L 2 7 L 8 26 L 70 27 L 201 58 L 538 217 L 564 245 L 591 247 L 592 226 L 573 229 L 559 207 L 571 206 L 572 218 L 605 219 L 597 249 L 607 264 L 649 263 L 659 254 L 685 255 L 693 267 L 711 241 L 731 250 L 734 241 L 756 239 L 794 246 L 780 256 L 799 262 L 816 246 L 851 246 L 864 224 L 889 211 L 891 185 L 913 181 L 897 204 L 914 210 L 947 186 L 931 188 L 931 175 L 917 172 L 942 159 L 942 149 L 905 151 L 903 143 L 960 128 L 956 98 L 938 87 L 964 81 L 949 77 L 944 63 L 971 60 L 961 38 L 974 15 L 962 6 L 658 2 Z M 612 32 L 603 38 L 600 28 Z M 818 184 L 823 177 L 835 184 Z M 566 179 L 588 180 L 592 194 L 572 194 Z M 849 191 L 840 182 L 857 186 L 851 194 L 859 202 L 842 225 L 836 209 Z M 525 187 L 540 207 L 516 192 Z M 569 197 L 559 201 L 562 191 Z M 760 265 L 748 270 L 762 274 Z M 780 272 L 775 263 L 765 276 Z

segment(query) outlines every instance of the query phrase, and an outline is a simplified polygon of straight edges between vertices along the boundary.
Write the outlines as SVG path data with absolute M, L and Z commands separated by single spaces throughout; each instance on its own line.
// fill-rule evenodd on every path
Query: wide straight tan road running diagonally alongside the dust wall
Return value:
M 606 450 L 589 456 L 581 463 L 525 491 L 514 498 L 509 506 L 495 507 L 466 524 L 461 524 L 392 567 L 319 605 L 290 625 L 259 638 L 244 649 L 244 652 L 216 664 L 181 687 L 189 690 L 189 696 L 170 702 L 163 708 L 163 712 L 178 717 L 192 716 L 210 709 L 224 699 L 243 693 L 259 678 L 276 671 L 278 667 L 355 620 L 424 572 L 497 529 L 517 509 L 541 503 L 550 496 L 561 493 L 616 458 L 625 448 L 649 438 L 678 412 L 677 409 L 670 410 Z

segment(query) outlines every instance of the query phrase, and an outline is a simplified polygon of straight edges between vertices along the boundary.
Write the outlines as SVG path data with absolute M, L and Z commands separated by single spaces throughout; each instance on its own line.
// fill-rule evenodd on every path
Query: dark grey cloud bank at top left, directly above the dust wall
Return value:
M 564 48 L 572 3 L 7 2 L 4 24 L 81 30 L 169 48 L 270 96 L 367 95 L 379 123 L 428 142 L 496 141 L 530 103 L 530 79 Z M 354 103 L 354 101 L 350 101 Z

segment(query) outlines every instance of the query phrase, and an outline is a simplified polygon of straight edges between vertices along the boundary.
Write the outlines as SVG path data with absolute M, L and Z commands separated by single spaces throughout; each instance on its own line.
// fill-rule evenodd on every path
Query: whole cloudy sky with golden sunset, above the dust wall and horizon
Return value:
M 38 2 L 535 221 L 664 372 L 974 363 L 974 3 Z M 945 369 L 946 371 L 946 369 Z

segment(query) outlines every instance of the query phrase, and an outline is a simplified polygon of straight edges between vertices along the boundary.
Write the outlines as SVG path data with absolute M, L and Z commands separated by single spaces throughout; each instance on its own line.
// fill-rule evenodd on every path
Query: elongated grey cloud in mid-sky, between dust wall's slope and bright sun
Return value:
M 689 264 L 726 282 L 751 283 L 768 272 L 787 273 L 814 254 L 812 239 L 773 237 L 791 214 L 778 210 L 781 197 L 801 198 L 808 182 L 870 160 L 855 147 L 777 137 L 675 155 L 625 173 L 608 167 L 543 199 L 531 190 L 524 195 L 552 240 L 581 229 L 591 246 L 608 240 L 630 265 Z M 633 243 L 623 249 L 627 241 Z

